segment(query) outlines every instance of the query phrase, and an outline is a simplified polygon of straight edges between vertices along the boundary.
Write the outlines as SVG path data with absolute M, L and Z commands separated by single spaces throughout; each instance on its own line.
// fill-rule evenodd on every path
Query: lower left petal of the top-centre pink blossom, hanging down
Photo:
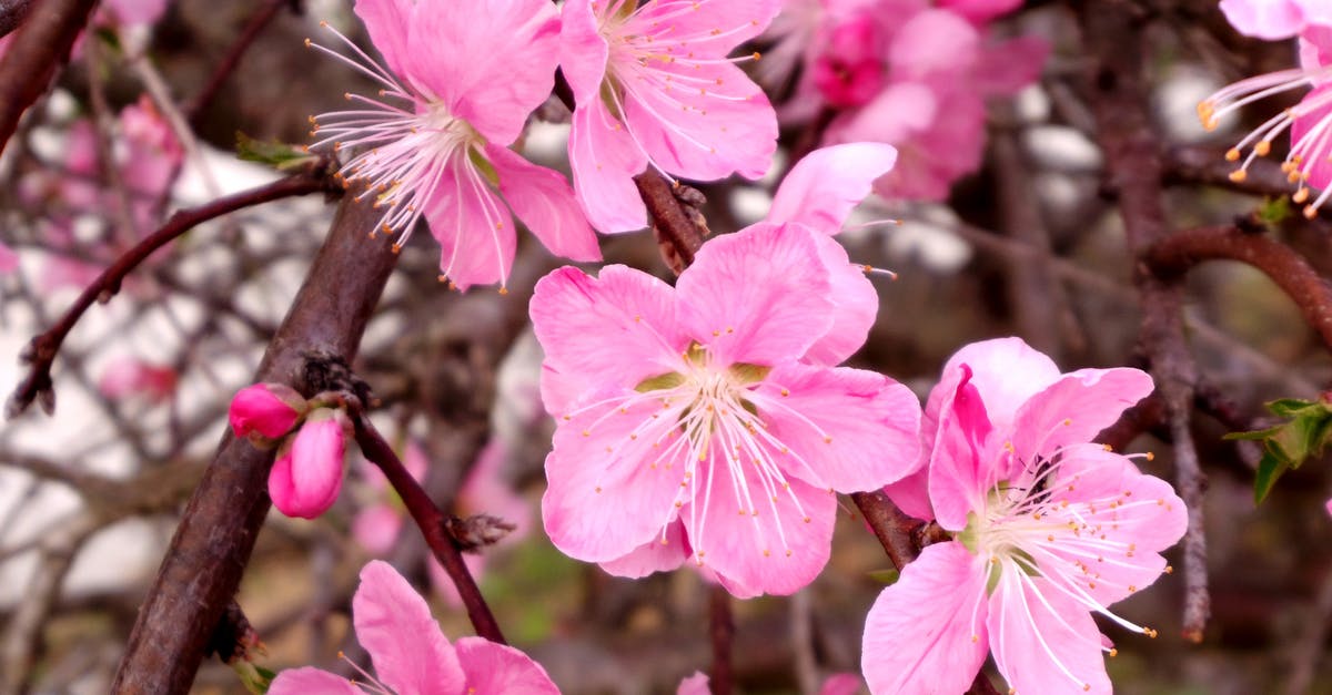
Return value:
M 607 234 L 647 226 L 647 208 L 633 181 L 647 166 L 647 154 L 599 99 L 574 111 L 569 166 L 593 226 Z

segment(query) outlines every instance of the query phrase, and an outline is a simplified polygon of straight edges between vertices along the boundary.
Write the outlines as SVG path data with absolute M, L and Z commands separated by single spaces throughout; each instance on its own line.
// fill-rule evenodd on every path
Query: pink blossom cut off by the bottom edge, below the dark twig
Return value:
M 541 664 L 513 647 L 476 636 L 450 644 L 430 616 L 430 606 L 386 562 L 372 561 L 361 570 L 361 586 L 352 598 L 352 622 L 376 672 L 372 676 L 362 671 L 356 682 L 372 686 L 376 692 L 559 692 Z M 278 674 L 268 692 L 361 695 L 365 691 L 342 676 L 305 667 Z

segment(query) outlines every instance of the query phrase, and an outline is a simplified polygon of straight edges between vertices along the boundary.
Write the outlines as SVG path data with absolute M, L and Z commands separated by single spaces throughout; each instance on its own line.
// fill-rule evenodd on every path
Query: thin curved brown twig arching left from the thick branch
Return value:
M 305 196 L 326 190 L 328 182 L 324 177 L 322 166 L 312 166 L 304 173 L 281 178 L 258 188 L 233 193 L 217 198 L 205 205 L 180 210 L 166 221 L 159 230 L 144 237 L 109 268 L 103 270 L 97 280 L 88 285 L 75 304 L 65 310 L 64 316 L 45 333 L 32 338 L 28 344 L 23 359 L 29 365 L 28 375 L 19 382 L 19 386 L 9 397 L 5 406 L 5 417 L 13 418 L 28 409 L 35 399 L 41 398 L 43 409 L 49 414 L 55 407 L 55 394 L 52 393 L 51 366 L 60 351 L 69 332 L 95 302 L 107 302 L 120 290 L 121 281 L 125 280 L 135 268 L 153 254 L 157 249 L 170 244 L 181 234 L 194 226 L 253 205 L 286 198 L 292 196 Z

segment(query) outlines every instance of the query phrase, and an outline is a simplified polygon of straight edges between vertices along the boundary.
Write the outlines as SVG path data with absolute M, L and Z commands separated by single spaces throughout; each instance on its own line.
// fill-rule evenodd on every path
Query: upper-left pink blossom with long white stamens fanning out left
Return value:
M 361 149 L 341 173 L 364 182 L 361 197 L 385 209 L 378 230 L 398 234 L 401 245 L 424 217 L 441 246 L 441 280 L 461 289 L 506 282 L 514 214 L 551 253 L 599 260 L 597 236 L 569 182 L 507 148 L 554 84 L 555 7 L 547 0 L 357 0 L 356 13 L 388 67 L 338 33 L 360 59 L 344 60 L 380 83 L 380 99 L 348 95 L 357 109 L 313 117 L 318 141 L 312 146 Z

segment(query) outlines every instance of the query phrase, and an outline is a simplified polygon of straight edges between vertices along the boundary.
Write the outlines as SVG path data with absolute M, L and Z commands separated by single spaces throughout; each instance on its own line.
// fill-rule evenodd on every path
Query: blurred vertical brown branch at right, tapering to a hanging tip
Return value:
M 1169 234 L 1162 201 L 1164 168 L 1143 84 L 1148 55 L 1143 44 L 1139 7 L 1131 0 L 1079 5 L 1083 40 L 1095 73 L 1091 100 L 1096 138 L 1106 154 L 1107 184 L 1118 194 L 1130 252 L 1142 260 Z M 1184 534 L 1184 634 L 1201 639 L 1211 612 L 1207 592 L 1207 539 L 1203 529 L 1203 473 L 1189 435 L 1196 366 L 1184 340 L 1183 289 L 1151 273 L 1146 262 L 1134 272 L 1143 305 L 1139 340 L 1151 361 L 1152 377 L 1175 434 L 1175 474 L 1188 507 Z

